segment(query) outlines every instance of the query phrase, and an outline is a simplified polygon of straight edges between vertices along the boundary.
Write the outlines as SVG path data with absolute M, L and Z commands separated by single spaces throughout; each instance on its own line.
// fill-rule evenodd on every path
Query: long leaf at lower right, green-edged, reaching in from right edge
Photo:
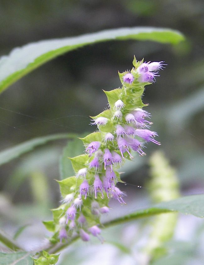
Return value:
M 172 201 L 164 201 L 147 209 L 142 209 L 126 216 L 104 223 L 105 227 L 123 222 L 129 222 L 138 218 L 153 216 L 160 213 L 179 211 L 183 214 L 192 214 L 196 217 L 204 217 L 204 194 L 184 196 Z

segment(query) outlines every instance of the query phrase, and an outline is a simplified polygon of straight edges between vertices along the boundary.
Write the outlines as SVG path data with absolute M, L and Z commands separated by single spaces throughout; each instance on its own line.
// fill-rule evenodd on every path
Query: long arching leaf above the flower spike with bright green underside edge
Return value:
M 78 37 L 42 40 L 14 48 L 0 59 L 0 92 L 47 61 L 73 49 L 108 40 L 151 40 L 177 44 L 184 36 L 168 28 L 134 27 L 103 30 Z

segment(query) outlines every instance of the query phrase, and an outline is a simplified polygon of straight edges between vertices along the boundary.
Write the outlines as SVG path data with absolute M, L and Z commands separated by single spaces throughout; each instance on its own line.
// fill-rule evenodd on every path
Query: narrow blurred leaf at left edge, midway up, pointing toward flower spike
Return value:
M 43 137 L 34 138 L 32 140 L 25 141 L 19 145 L 15 145 L 9 149 L 0 152 L 0 166 L 11 161 L 12 159 L 33 150 L 38 145 L 44 145 L 48 141 L 65 139 L 65 138 L 75 138 L 75 134 L 65 133 L 65 134 L 53 134 Z

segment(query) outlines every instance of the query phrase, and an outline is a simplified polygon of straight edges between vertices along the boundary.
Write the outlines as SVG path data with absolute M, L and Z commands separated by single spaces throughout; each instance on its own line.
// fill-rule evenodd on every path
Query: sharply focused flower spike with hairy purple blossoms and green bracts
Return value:
M 59 181 L 63 196 L 62 205 L 53 210 L 54 221 L 46 223 L 55 232 L 51 241 L 63 242 L 73 234 L 89 241 L 91 233 L 100 241 L 100 215 L 109 212 L 110 198 L 125 204 L 126 194 L 116 186 L 120 181 L 117 169 L 131 160 L 132 151 L 145 155 L 146 142 L 160 143 L 150 129 L 151 115 L 142 108 L 144 86 L 151 84 L 164 67 L 164 62 L 133 60 L 130 72 L 119 73 L 122 88 L 105 91 L 110 108 L 92 118 L 97 131 L 81 138 L 85 154 L 70 158 L 75 176 Z

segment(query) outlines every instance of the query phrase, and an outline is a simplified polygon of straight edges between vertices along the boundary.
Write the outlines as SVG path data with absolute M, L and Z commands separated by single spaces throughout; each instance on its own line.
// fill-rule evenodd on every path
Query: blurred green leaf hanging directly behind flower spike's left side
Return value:
M 75 172 L 72 167 L 72 162 L 68 157 L 78 156 L 82 154 L 83 151 L 84 151 L 84 146 L 81 140 L 74 139 L 72 141 L 67 142 L 67 145 L 63 149 L 63 154 L 60 158 L 61 180 L 75 175 Z

